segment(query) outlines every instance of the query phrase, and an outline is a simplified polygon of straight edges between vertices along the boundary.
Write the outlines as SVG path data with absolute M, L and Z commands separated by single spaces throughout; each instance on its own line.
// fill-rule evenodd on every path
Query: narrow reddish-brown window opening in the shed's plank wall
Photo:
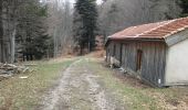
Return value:
M 137 56 L 136 56 L 136 70 L 142 69 L 142 61 L 143 61 L 143 51 L 138 50 L 137 51 Z

